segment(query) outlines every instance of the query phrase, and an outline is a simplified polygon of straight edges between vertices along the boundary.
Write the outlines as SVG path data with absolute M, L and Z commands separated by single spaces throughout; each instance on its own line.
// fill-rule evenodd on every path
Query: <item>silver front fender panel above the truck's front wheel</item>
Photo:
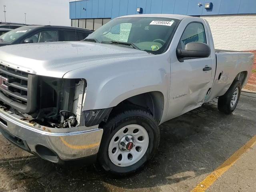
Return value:
M 170 58 L 148 55 L 143 58 L 120 59 L 73 70 L 64 78 L 84 78 L 87 92 L 83 110 L 104 109 L 118 105 L 138 94 L 159 91 L 168 102 Z M 167 106 L 167 105 L 165 105 Z

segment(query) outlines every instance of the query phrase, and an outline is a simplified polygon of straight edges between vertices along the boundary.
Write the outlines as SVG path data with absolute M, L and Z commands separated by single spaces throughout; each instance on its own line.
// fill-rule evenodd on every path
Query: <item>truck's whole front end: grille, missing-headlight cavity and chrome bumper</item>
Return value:
M 111 109 L 82 111 L 86 80 L 38 76 L 0 64 L 0 132 L 51 162 L 98 153 Z

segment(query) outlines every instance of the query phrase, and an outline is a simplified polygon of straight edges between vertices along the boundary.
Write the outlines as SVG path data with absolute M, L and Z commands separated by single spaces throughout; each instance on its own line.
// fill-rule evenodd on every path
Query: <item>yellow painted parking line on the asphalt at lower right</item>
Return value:
M 256 143 L 256 135 L 251 138 L 244 146 L 237 150 L 230 158 L 228 158 L 221 166 L 209 174 L 200 184 L 198 184 L 191 192 L 206 191 L 224 172 L 226 172 L 239 158 L 248 151 Z

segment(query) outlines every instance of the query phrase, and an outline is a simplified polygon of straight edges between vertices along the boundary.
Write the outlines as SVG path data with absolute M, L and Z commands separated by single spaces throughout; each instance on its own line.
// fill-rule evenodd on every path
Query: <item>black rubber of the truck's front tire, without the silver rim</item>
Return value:
M 124 126 L 138 124 L 148 133 L 149 144 L 146 153 L 138 162 L 127 167 L 120 167 L 113 164 L 108 155 L 108 146 L 114 134 Z M 154 117 L 143 109 L 130 109 L 112 115 L 108 122 L 103 125 L 103 136 L 98 152 L 98 161 L 107 172 L 114 175 L 125 176 L 142 170 L 145 163 L 150 160 L 158 148 L 160 140 L 159 127 Z

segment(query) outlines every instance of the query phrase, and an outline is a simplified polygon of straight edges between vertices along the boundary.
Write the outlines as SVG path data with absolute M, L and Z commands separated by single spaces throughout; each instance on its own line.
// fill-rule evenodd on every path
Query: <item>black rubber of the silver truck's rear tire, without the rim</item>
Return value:
M 232 100 L 232 96 L 233 96 L 233 93 L 236 90 L 236 88 L 238 88 L 238 98 L 236 100 L 236 103 L 232 107 L 231 100 Z M 224 114 L 231 114 L 235 110 L 235 108 L 238 104 L 240 94 L 241 94 L 241 89 L 242 89 L 241 82 L 234 81 L 232 83 L 232 85 L 230 86 L 230 88 L 228 89 L 228 91 L 224 95 L 222 95 L 218 98 L 218 110 Z

